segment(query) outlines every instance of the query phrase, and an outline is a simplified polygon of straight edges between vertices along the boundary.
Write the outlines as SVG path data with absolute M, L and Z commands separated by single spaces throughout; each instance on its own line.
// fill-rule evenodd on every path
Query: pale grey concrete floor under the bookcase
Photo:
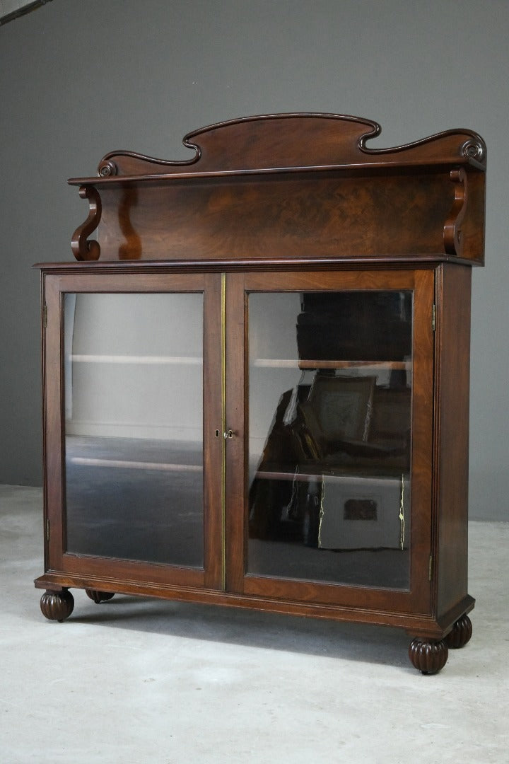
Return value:
M 509 762 L 509 523 L 471 523 L 474 635 L 423 676 L 397 630 L 82 591 L 47 621 L 41 505 L 0 486 L 1 764 Z

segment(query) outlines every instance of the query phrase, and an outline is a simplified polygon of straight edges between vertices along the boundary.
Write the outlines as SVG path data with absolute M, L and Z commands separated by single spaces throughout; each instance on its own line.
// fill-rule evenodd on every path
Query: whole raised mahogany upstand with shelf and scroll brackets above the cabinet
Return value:
M 482 262 L 486 149 L 468 130 L 372 148 L 380 126 L 330 114 L 189 133 L 188 160 L 106 154 L 72 179 L 90 212 L 78 260 L 274 260 L 433 254 Z M 97 241 L 88 239 L 98 228 Z

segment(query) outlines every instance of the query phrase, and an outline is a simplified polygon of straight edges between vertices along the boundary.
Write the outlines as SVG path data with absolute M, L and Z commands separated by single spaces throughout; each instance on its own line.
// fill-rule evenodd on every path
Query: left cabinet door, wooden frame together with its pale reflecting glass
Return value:
M 221 277 L 49 275 L 45 300 L 48 567 L 221 588 Z

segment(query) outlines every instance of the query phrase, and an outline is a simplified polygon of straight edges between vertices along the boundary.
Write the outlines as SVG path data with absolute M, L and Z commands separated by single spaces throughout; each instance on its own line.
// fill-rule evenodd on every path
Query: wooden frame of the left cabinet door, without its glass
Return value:
M 63 358 L 63 295 L 65 293 L 203 293 L 203 446 L 204 446 L 204 565 L 159 564 L 66 552 L 65 416 Z M 43 418 L 45 481 L 45 571 L 111 581 L 143 581 L 176 587 L 224 588 L 224 529 L 222 509 L 222 438 L 224 398 L 221 379 L 221 274 L 118 269 L 86 273 L 44 273 L 43 300 Z

